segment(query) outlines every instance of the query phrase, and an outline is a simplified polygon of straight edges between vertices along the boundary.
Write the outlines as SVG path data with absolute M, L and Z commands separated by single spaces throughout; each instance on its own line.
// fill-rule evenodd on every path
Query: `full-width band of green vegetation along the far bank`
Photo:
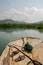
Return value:
M 40 31 L 43 31 L 43 23 L 40 24 L 0 24 L 0 29 L 38 29 Z

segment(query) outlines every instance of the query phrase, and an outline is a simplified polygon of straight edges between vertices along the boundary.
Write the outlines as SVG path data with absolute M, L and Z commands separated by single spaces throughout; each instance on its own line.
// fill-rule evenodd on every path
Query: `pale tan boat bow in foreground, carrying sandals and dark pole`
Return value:
M 22 50 L 26 43 L 33 49 L 31 52 Z M 33 37 L 25 37 L 10 42 L 0 56 L 0 65 L 43 65 L 43 40 Z

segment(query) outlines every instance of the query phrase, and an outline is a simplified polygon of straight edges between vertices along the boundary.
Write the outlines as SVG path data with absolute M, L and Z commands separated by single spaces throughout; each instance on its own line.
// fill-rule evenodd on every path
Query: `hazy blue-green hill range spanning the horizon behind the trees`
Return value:
M 0 20 L 0 24 L 12 24 L 12 23 L 14 23 L 14 24 L 43 24 L 43 20 L 36 22 L 36 23 L 26 23 L 24 21 L 15 21 L 15 20 L 12 20 L 12 19 Z

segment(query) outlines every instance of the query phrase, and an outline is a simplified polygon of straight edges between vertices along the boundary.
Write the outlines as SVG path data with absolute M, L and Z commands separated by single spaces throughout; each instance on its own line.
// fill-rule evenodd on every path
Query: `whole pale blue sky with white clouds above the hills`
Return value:
M 0 20 L 35 23 L 43 20 L 43 0 L 0 0 Z

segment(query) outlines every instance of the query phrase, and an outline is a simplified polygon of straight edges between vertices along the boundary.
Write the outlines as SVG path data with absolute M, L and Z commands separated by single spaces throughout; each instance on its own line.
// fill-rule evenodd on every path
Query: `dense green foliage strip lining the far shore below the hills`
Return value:
M 43 28 L 43 24 L 0 24 L 0 28 Z

